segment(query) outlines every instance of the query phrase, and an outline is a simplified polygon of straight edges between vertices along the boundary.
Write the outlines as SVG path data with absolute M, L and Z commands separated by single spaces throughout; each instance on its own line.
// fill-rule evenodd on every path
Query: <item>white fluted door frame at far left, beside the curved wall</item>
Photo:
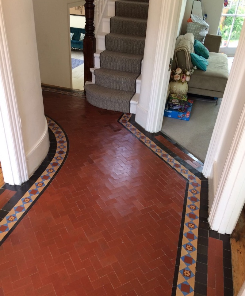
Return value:
M 28 180 L 21 120 L 0 0 L 0 159 L 4 181 L 21 185 Z

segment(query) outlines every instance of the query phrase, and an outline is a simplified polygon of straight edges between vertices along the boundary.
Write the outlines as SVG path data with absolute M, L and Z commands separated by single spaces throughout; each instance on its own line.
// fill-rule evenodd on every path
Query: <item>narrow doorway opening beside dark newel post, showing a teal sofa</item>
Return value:
M 69 9 L 71 33 L 72 88 L 84 90 L 83 38 L 85 36 L 84 6 Z

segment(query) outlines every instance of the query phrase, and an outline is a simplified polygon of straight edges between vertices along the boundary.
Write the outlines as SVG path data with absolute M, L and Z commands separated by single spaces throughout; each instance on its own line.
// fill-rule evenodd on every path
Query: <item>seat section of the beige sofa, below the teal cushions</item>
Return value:
M 191 75 L 188 86 L 190 88 L 208 89 L 224 92 L 228 79 L 227 55 L 209 52 L 207 71 L 196 69 Z

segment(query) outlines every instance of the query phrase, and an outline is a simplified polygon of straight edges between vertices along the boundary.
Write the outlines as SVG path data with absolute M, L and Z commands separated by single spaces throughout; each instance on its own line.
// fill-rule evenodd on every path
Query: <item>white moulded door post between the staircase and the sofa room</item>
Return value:
M 136 122 L 149 132 L 161 130 L 181 9 L 179 0 L 149 2 L 140 100 Z

